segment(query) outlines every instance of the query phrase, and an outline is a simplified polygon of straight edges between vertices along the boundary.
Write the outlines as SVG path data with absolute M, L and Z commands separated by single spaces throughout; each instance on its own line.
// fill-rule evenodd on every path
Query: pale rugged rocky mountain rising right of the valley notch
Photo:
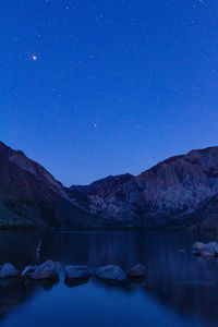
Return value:
M 89 211 L 125 228 L 218 227 L 218 147 L 169 158 L 111 189 L 90 185 L 76 186 Z

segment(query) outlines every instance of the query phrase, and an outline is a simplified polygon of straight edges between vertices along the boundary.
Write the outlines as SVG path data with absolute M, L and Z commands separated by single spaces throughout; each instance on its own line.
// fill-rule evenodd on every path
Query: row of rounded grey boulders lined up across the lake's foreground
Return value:
M 62 272 L 66 284 L 83 283 L 88 281 L 90 277 L 114 284 L 128 281 L 143 281 L 146 277 L 146 268 L 142 264 L 133 266 L 126 272 L 117 265 L 100 266 L 93 271 L 87 266 L 68 265 L 62 267 L 60 263 L 49 259 L 41 265 L 27 266 L 23 270 L 19 270 L 12 264 L 5 263 L 0 267 L 0 280 L 13 278 L 59 280 Z

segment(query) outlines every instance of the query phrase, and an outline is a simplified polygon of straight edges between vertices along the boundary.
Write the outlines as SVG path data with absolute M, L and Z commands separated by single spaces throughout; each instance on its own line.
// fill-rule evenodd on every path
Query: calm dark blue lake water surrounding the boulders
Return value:
M 0 232 L 0 264 L 22 268 L 51 258 L 62 265 L 118 264 L 124 270 L 143 263 L 143 283 L 109 286 L 0 281 L 0 325 L 65 326 L 218 326 L 218 262 L 190 254 L 192 243 L 216 241 L 218 233 L 182 232 Z

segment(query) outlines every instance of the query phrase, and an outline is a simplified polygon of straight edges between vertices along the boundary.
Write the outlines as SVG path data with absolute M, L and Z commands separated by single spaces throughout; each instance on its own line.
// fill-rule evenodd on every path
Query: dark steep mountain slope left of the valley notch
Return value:
M 95 227 L 46 169 L 0 142 L 0 228 Z M 98 223 L 97 223 L 98 226 Z

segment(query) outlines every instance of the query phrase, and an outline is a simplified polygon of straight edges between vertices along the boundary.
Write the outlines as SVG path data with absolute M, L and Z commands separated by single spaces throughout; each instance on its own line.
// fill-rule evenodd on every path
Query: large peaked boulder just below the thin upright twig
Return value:
M 33 274 L 33 279 L 58 278 L 59 263 L 47 261 L 40 265 Z

